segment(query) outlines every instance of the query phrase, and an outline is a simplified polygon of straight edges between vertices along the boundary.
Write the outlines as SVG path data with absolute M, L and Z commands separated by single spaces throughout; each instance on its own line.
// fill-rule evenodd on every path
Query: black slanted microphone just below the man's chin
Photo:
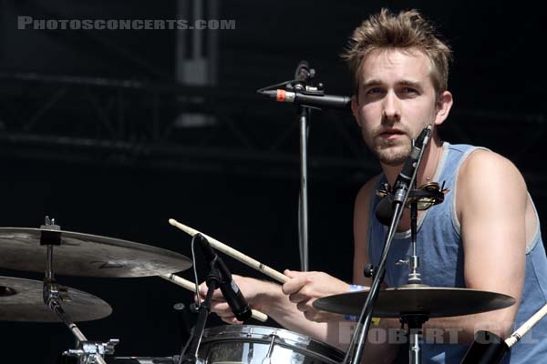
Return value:
M 423 149 L 428 145 L 429 137 L 431 136 L 432 126 L 426 126 L 419 134 L 416 142 L 412 145 L 410 153 L 401 172 L 399 173 L 395 184 L 393 185 L 393 203 L 403 203 L 410 184 L 412 183 L 412 177 L 418 167 L 418 162 L 422 157 Z

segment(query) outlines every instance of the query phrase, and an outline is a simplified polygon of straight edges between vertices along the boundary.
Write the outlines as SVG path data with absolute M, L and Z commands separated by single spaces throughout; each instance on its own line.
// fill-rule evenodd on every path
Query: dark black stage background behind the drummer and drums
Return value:
M 294 67 L 306 59 L 328 93 L 349 95 L 350 76 L 338 55 L 356 25 L 382 6 L 416 7 L 439 25 L 456 58 L 449 79 L 455 105 L 443 136 L 511 158 L 543 216 L 547 77 L 540 56 L 544 13 L 537 5 L 204 4 L 204 18 L 213 18 L 217 4 L 215 17 L 235 19 L 236 27 L 202 31 L 203 44 L 217 42 L 216 75 L 209 86 L 191 86 L 176 83 L 175 31 L 16 26 L 17 15 L 172 19 L 177 17 L 174 1 L 0 1 L 1 226 L 38 227 L 49 215 L 66 230 L 190 257 L 190 238 L 167 223 L 174 217 L 273 268 L 299 268 L 295 109 L 254 91 L 292 78 Z M 198 31 L 184 32 L 188 45 Z M 205 51 L 203 56 L 210 55 Z M 212 122 L 177 123 L 186 112 Z M 378 167 L 348 113 L 314 112 L 309 143 L 310 266 L 348 280 L 353 199 Z M 261 277 L 225 260 L 233 272 Z M 190 273 L 181 276 L 191 278 Z M 161 278 L 59 281 L 112 306 L 108 318 L 79 324 L 88 339 L 120 339 L 119 356 L 179 351 L 181 334 L 171 308 L 191 301 L 183 289 Z M 61 324 L 2 322 L 0 332 L 1 362 L 51 363 L 73 344 Z

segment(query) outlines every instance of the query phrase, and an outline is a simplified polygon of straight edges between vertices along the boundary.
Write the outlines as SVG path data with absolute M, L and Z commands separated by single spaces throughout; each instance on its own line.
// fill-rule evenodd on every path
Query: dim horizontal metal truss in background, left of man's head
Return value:
M 36 74 L 0 78 L 4 156 L 298 176 L 293 107 L 270 104 L 253 90 Z M 351 116 L 313 114 L 312 177 L 356 178 L 377 170 Z M 191 116 L 199 116 L 196 123 L 188 122 Z

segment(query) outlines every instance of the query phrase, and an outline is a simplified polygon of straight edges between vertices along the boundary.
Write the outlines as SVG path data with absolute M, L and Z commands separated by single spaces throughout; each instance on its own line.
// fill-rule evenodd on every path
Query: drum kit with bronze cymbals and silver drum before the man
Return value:
M 199 231 L 170 220 L 192 236 Z M 206 236 L 207 237 L 207 236 Z M 211 245 L 264 274 L 287 281 L 282 273 L 207 237 Z M 43 282 L 23 278 L 0 278 L 0 320 L 63 322 L 76 338 L 76 347 L 64 358 L 78 364 L 90 363 L 180 363 L 182 355 L 169 358 L 115 357 L 118 339 L 88 340 L 76 322 L 106 318 L 112 308 L 101 298 L 61 286 L 56 274 L 98 278 L 160 276 L 184 288 L 195 284 L 174 273 L 191 268 L 191 259 L 163 248 L 61 230 L 46 217 L 40 228 L 0 227 L 0 268 L 45 272 Z M 346 293 L 315 301 L 325 311 L 356 315 L 366 291 Z M 375 316 L 380 318 L 439 318 L 506 308 L 514 299 L 505 295 L 463 288 L 431 288 L 423 285 L 388 288 L 377 300 Z M 265 320 L 260 312 L 253 318 Z M 261 326 L 224 326 L 203 331 L 198 361 L 212 364 L 321 363 L 336 364 L 344 353 L 329 345 L 285 329 Z

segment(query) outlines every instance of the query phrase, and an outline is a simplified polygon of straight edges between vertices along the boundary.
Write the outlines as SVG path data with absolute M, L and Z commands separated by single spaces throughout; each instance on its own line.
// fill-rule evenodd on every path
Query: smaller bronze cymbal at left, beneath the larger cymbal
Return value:
M 33 279 L 0 277 L 0 320 L 28 322 L 57 322 L 57 315 L 46 306 L 42 298 L 44 282 Z M 70 300 L 61 305 L 75 321 L 106 318 L 112 308 L 102 299 L 67 288 Z

